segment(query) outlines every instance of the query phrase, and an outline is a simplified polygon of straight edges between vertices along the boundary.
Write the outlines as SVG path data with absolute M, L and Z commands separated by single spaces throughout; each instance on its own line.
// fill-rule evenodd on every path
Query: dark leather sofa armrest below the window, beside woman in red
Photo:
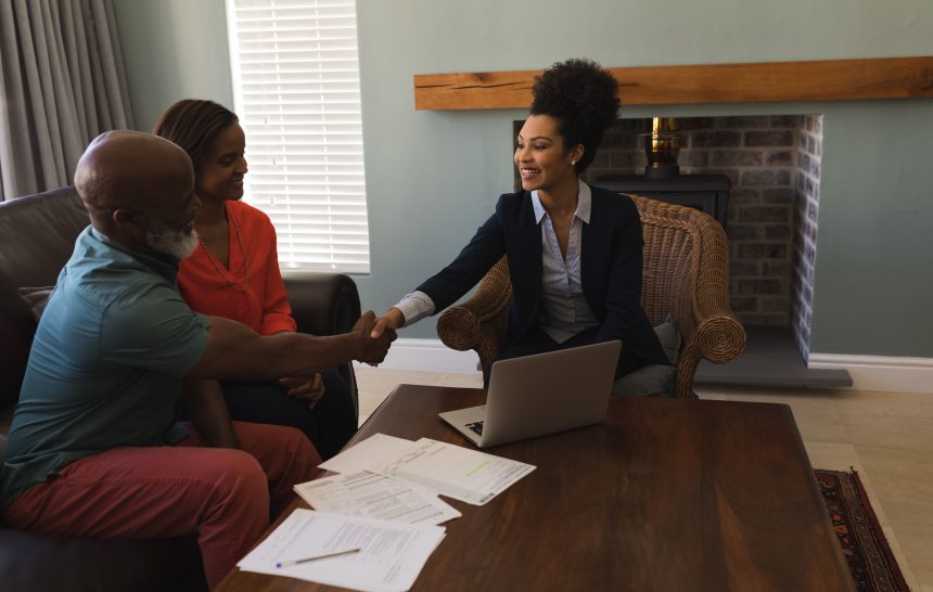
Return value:
M 349 275 L 286 272 L 282 276 L 292 316 L 302 333 L 338 335 L 359 320 L 359 293 Z

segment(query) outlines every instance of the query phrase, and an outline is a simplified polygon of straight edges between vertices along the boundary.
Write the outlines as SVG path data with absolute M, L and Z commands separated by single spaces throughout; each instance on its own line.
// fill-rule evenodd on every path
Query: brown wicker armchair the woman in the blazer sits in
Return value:
M 640 195 L 631 200 L 644 236 L 641 306 L 652 324 L 668 312 L 677 321 L 682 346 L 675 396 L 689 398 L 701 359 L 727 363 L 745 347 L 745 330 L 729 310 L 726 233 L 696 209 Z M 511 297 L 502 257 L 470 299 L 448 308 L 437 321 L 437 334 L 447 347 L 476 350 L 485 377 L 504 343 Z

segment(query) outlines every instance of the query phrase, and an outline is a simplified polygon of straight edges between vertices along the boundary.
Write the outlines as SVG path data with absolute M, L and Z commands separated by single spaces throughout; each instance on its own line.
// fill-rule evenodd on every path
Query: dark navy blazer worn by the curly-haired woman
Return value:
M 621 339 L 619 370 L 647 363 L 669 364 L 641 309 L 641 219 L 635 204 L 618 193 L 591 188 L 590 223 L 584 224 L 580 282 L 584 296 L 600 322 L 598 342 Z M 541 229 L 535 222 L 527 191 L 506 193 L 496 214 L 480 227 L 460 255 L 417 289 L 444 310 L 473 287 L 502 257 L 509 256 L 512 301 L 508 345 L 520 340 L 536 322 L 541 292 Z

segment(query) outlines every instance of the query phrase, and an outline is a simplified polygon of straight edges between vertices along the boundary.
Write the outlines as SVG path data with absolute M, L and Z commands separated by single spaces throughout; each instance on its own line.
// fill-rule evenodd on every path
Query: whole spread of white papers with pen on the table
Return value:
M 376 434 L 295 486 L 317 511 L 296 510 L 238 566 L 363 591 L 405 591 L 461 514 L 437 496 L 484 505 L 535 469 L 422 438 Z

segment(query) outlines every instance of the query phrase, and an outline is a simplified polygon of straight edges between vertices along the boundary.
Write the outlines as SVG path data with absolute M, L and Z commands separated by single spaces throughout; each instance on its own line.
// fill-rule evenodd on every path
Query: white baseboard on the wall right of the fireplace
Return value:
M 847 370 L 854 390 L 933 395 L 933 358 L 810 353 L 807 368 Z

